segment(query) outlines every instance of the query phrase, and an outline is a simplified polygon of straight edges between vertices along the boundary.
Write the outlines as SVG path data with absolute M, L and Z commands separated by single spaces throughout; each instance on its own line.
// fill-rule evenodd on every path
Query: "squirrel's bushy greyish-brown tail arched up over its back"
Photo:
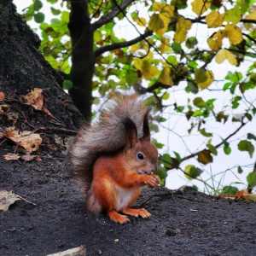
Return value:
M 97 156 L 125 147 L 125 119 L 130 118 L 137 126 L 138 137 L 143 137 L 143 119 L 147 114 L 148 107 L 137 93 L 114 93 L 103 103 L 96 121 L 79 131 L 70 150 L 71 168 L 85 192 L 90 189 Z

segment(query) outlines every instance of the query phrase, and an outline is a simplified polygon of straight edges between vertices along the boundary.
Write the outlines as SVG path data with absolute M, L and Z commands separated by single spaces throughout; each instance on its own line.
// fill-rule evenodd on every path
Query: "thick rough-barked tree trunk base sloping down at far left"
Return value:
M 19 125 L 20 129 L 38 129 L 40 125 L 46 128 L 47 125 L 51 129 L 76 131 L 84 119 L 61 89 L 61 76 L 39 52 L 38 36 L 16 13 L 12 1 L 0 0 L 0 10 L 0 91 L 5 94 L 3 103 L 13 108 L 9 111 L 17 113 L 15 121 L 8 118 L 5 121 Z M 44 110 L 35 110 L 22 100 L 34 88 L 43 90 Z

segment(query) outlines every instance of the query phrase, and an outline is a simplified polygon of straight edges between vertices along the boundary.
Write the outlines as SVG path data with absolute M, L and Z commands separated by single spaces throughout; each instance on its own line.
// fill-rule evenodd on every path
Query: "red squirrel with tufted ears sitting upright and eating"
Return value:
M 96 122 L 79 131 L 70 153 L 90 212 L 106 212 L 119 224 L 129 221 L 125 214 L 150 216 L 144 208 L 131 208 L 144 186 L 160 183 L 152 173 L 158 151 L 150 142 L 148 107 L 137 93 L 114 93 Z

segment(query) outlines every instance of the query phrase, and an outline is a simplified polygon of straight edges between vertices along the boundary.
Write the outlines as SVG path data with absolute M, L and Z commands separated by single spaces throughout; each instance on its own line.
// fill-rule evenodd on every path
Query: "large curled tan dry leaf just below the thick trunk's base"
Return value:
M 6 129 L 5 136 L 29 152 L 37 151 L 43 141 L 37 133 L 32 133 L 32 131 L 19 132 L 14 127 Z

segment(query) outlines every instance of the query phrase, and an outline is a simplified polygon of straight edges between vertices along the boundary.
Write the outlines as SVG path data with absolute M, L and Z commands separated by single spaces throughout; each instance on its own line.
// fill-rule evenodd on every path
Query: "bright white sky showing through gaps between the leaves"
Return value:
M 45 2 L 45 1 L 44 1 Z M 32 0 L 28 1 L 22 1 L 22 0 L 14 0 L 14 3 L 17 6 L 17 10 L 19 13 L 21 13 L 22 9 L 26 8 L 30 3 L 32 3 Z M 44 5 L 44 8 L 41 9 L 42 12 L 44 12 L 45 16 L 47 17 L 47 21 L 50 20 L 50 10 L 49 10 L 49 4 Z M 52 18 L 52 17 L 51 17 Z M 120 37 L 125 37 L 127 39 L 135 38 L 138 36 L 137 32 L 133 28 L 129 28 L 128 26 L 124 25 L 125 21 L 120 22 L 119 29 L 117 29 L 117 32 L 119 32 Z M 32 25 L 32 26 L 35 26 Z M 205 26 L 201 25 L 195 25 L 193 27 L 193 30 L 191 30 L 190 35 L 196 36 L 196 38 L 199 39 L 199 42 L 201 44 L 201 47 L 203 48 L 204 45 L 206 45 L 206 39 L 209 34 L 212 34 L 212 32 L 207 32 L 205 29 Z M 224 79 L 225 75 L 228 71 L 231 71 L 234 73 L 235 71 L 245 73 L 247 71 L 247 67 L 252 64 L 251 61 L 245 61 L 243 64 L 241 64 L 240 67 L 234 67 L 231 66 L 227 61 L 224 61 L 223 64 L 218 65 L 215 61 L 212 61 L 212 63 L 208 66 L 210 70 L 213 70 L 215 73 L 215 78 L 218 78 L 218 80 Z M 211 85 L 211 89 L 221 89 L 223 87 L 224 82 L 214 83 Z M 177 88 L 178 89 L 178 88 Z M 217 98 L 218 101 L 214 103 L 216 108 L 220 110 L 223 109 L 223 106 L 225 104 L 230 103 L 230 93 L 220 93 L 219 91 L 211 91 L 203 90 L 197 95 L 191 95 L 187 94 L 183 90 L 179 90 L 178 92 L 170 92 L 171 97 L 168 103 L 170 102 L 177 102 L 178 105 L 186 105 L 186 102 L 188 100 L 188 97 L 193 100 L 194 97 L 201 96 L 205 101 L 207 99 L 211 98 Z M 256 99 L 256 91 L 250 90 L 247 92 L 247 98 L 248 99 Z M 241 113 L 241 110 L 243 108 L 238 108 L 233 111 L 233 113 Z M 169 115 L 168 115 L 169 116 Z M 157 140 L 160 143 L 165 144 L 165 148 L 163 150 L 160 150 L 161 154 L 164 153 L 170 153 L 172 154 L 172 151 L 177 151 L 181 154 L 181 157 L 186 156 L 189 154 L 188 148 L 186 148 L 180 139 L 179 136 L 186 136 L 183 137 L 184 141 L 187 145 L 189 145 L 189 150 L 191 152 L 195 152 L 198 150 L 198 148 L 201 148 L 201 145 L 204 141 L 207 141 L 204 137 L 199 137 L 196 135 L 193 135 L 194 132 L 192 132 L 192 135 L 188 134 L 188 129 L 190 128 L 190 125 L 187 121 L 184 121 L 183 119 L 180 119 L 177 115 L 172 114 L 171 118 L 164 123 L 168 129 L 171 129 L 172 131 L 176 132 L 178 134 L 175 135 L 172 131 L 167 131 L 166 129 L 161 129 L 161 131 L 157 134 L 154 134 L 153 137 L 156 137 Z M 223 125 L 220 123 L 215 122 L 214 120 L 212 122 L 207 122 L 207 132 L 212 132 L 214 134 L 218 134 L 218 136 L 212 138 L 212 144 L 220 143 L 221 137 L 227 137 L 231 132 L 236 130 L 236 127 L 239 125 L 239 123 L 232 123 L 229 119 L 229 121 Z M 213 163 L 211 165 L 207 166 L 200 166 L 200 164 L 194 160 L 188 160 L 184 162 L 181 167 L 184 169 L 185 166 L 193 164 L 197 167 L 200 167 L 201 169 L 207 170 L 204 172 L 201 177 L 203 180 L 208 179 L 212 175 L 216 175 L 218 173 L 222 173 L 220 175 L 216 176 L 216 180 L 214 183 L 209 181 L 209 184 L 214 186 L 218 186 L 218 181 L 221 179 L 221 184 L 226 185 L 230 184 L 230 182 L 246 182 L 246 176 L 248 172 L 253 171 L 253 166 L 250 166 L 249 168 L 243 168 L 244 172 L 243 174 L 237 174 L 237 166 L 247 166 L 249 164 L 253 165 L 255 161 L 255 153 L 253 154 L 253 158 L 250 159 L 247 152 L 241 152 L 237 149 L 236 144 L 239 142 L 239 138 L 241 139 L 241 136 L 247 135 L 248 132 L 255 134 L 255 127 L 256 122 L 255 118 L 253 118 L 253 121 L 248 124 L 246 127 L 241 129 L 235 137 L 232 137 L 231 141 L 233 143 L 230 143 L 230 147 L 232 149 L 232 152 L 230 156 L 227 156 L 224 154 L 222 149 L 218 150 L 218 157 L 213 156 Z M 246 137 L 244 137 L 246 139 Z M 201 148 L 202 149 L 202 148 Z M 235 169 L 232 169 L 232 171 L 224 172 L 225 170 L 229 170 L 230 168 L 233 168 L 236 166 Z M 224 174 L 225 173 L 225 174 Z M 194 181 L 193 184 L 197 185 L 200 189 L 204 189 L 204 185 L 202 183 Z M 183 173 L 177 170 L 172 170 L 168 172 L 168 177 L 166 179 L 166 186 L 170 189 L 177 189 L 180 186 L 184 184 L 191 184 L 188 182 L 188 180 L 183 176 Z M 245 185 L 241 185 L 240 188 L 243 189 Z

